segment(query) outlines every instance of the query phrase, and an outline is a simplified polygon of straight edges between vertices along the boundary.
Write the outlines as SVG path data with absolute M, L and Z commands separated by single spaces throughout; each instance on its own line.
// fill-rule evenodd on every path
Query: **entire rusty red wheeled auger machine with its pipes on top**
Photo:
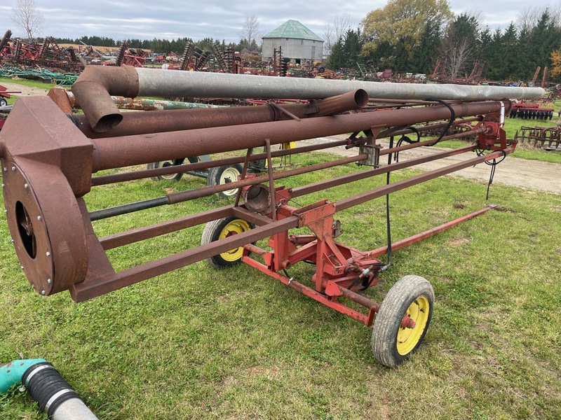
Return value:
M 501 125 L 511 104 L 500 98 L 515 95 L 530 99 L 543 94 L 541 88 L 485 87 L 474 94 L 457 85 L 259 78 L 129 66 L 88 67 L 72 92 L 84 116 L 68 118 L 48 97 L 25 97 L 15 104 L 0 134 L 8 227 L 23 272 L 37 293 L 53 295 L 69 290 L 80 302 L 201 260 L 208 260 L 212 267 L 245 262 L 364 325 L 373 324 L 372 350 L 386 366 L 401 363 L 423 341 L 433 314 L 434 293 L 426 279 L 411 275 L 400 279 L 381 304 L 361 293 L 374 286 L 379 274 L 392 265 L 391 260 L 384 261 L 384 255 L 389 257 L 391 250 L 452 228 L 491 207 L 400 241 L 388 240 L 386 246 L 368 251 L 337 241 L 342 232 L 337 214 L 459 169 L 503 159 L 515 144 L 507 141 Z M 309 102 L 264 104 L 244 107 L 244 111 L 214 108 L 121 114 L 111 95 L 292 98 Z M 400 104 L 389 109 L 385 106 L 383 111 L 342 113 L 364 106 L 369 96 L 386 98 L 390 104 L 390 99 L 400 99 Z M 439 99 L 421 100 L 428 97 Z M 391 163 L 393 160 L 388 159 L 388 165 L 383 165 L 383 160 L 400 151 L 431 146 L 464 133 L 449 135 L 443 130 L 436 139 L 420 141 L 419 137 L 419 141 L 398 142 L 389 148 L 382 148 L 379 139 L 418 132 L 414 125 L 431 121 L 435 123 L 426 125 L 428 129 L 445 129 L 456 124 L 456 118 L 463 118 L 462 124 L 473 123 L 476 144 L 403 162 Z M 27 134 L 25 142 L 21 141 L 22 133 Z M 288 141 L 348 133 L 352 133 L 348 138 L 330 144 L 273 150 L 273 146 Z M 334 146 L 354 148 L 357 153 L 351 158 L 273 171 L 275 157 Z M 105 169 L 242 150 L 245 156 L 92 176 Z M 295 204 L 295 200 L 306 200 L 311 193 L 327 195 L 331 188 L 344 188 L 349 183 L 364 185 L 360 181 L 372 176 L 472 151 L 478 151 L 477 155 L 463 162 L 378 188 L 363 188 L 339 200 L 324 197 L 303 207 Z M 248 174 L 251 162 L 257 160 L 268 162 L 266 172 Z M 325 169 L 351 162 L 361 167 L 350 174 L 322 179 Z M 180 190 L 94 211 L 88 210 L 83 199 L 97 186 L 235 163 L 243 164 L 243 170 L 238 180 L 227 185 Z M 293 188 L 285 185 L 290 177 L 310 172 L 317 174 L 313 183 Z M 95 233 L 95 221 L 101 219 L 184 203 L 232 188 L 238 188 L 236 197 L 222 207 L 105 237 Z M 203 224 L 200 246 L 128 269 L 116 271 L 106 254 L 171 232 L 192 235 L 190 228 Z M 304 228 L 306 232 L 302 232 Z M 268 247 L 257 242 L 261 239 L 268 239 Z M 315 265 L 311 278 L 288 275 L 299 262 Z

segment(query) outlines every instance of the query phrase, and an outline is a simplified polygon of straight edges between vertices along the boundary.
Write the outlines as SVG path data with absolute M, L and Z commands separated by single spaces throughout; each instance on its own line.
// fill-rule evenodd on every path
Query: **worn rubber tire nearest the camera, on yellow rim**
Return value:
M 405 354 L 398 351 L 398 332 L 400 332 L 403 316 L 412 307 L 414 302 L 428 303 L 428 316 L 426 310 L 422 311 L 424 325 L 418 323 L 415 328 L 423 330 L 412 331 L 412 341 L 406 343 L 410 346 Z M 419 307 L 419 304 L 417 304 Z M 396 367 L 406 360 L 414 351 L 417 351 L 426 335 L 428 325 L 431 323 L 434 307 L 434 290 L 431 283 L 421 276 L 404 276 L 388 291 L 386 298 L 381 303 L 380 310 L 374 321 L 372 330 L 372 353 L 381 365 Z M 415 343 L 415 340 L 417 342 Z M 403 345 L 403 343 L 401 344 Z

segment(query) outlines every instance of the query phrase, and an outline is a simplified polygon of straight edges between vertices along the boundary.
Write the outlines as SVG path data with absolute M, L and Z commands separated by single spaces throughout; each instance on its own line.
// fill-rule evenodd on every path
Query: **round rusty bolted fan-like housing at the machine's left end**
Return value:
M 88 272 L 86 228 L 79 204 L 59 167 L 27 159 L 18 164 L 5 162 L 2 167 L 6 218 L 15 252 L 38 293 L 68 290 L 84 281 Z

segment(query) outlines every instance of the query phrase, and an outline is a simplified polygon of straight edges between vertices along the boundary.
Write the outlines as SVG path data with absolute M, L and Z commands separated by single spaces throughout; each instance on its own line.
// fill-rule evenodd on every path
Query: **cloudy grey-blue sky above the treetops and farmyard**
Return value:
M 529 2 L 522 0 L 449 0 L 454 13 L 480 11 L 489 27 L 504 29 L 516 20 L 521 10 L 538 6 L 559 6 L 557 1 Z M 11 20 L 16 0 L 0 0 L 0 37 L 7 29 L 13 37 L 23 36 L 22 29 Z M 41 36 L 79 38 L 107 36 L 114 40 L 126 38 L 192 38 L 210 37 L 238 42 L 245 18 L 255 15 L 259 32 L 264 35 L 289 19 L 298 20 L 323 38 L 327 22 L 335 16 L 350 15 L 351 28 L 370 10 L 382 8 L 384 0 L 35 0 L 43 14 Z M 466 6 L 466 4 L 468 6 Z

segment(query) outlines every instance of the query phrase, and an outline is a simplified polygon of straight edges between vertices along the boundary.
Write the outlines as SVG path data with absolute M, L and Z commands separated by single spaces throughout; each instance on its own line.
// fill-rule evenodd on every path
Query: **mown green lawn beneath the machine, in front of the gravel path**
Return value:
M 324 159 L 296 158 L 306 165 Z M 286 185 L 353 171 L 327 169 Z M 138 181 L 95 188 L 86 200 L 95 210 L 203 183 Z M 337 200 L 382 183 L 361 181 L 297 202 Z M 485 183 L 452 176 L 393 194 L 393 239 L 481 209 L 485 190 Z M 247 265 L 216 271 L 198 262 L 79 304 L 67 292 L 41 297 L 20 270 L 2 216 L 0 360 L 50 360 L 103 420 L 559 419 L 561 197 L 494 184 L 491 200 L 499 209 L 396 251 L 396 265 L 367 290 L 381 300 L 406 274 L 425 276 L 435 288 L 424 344 L 393 370 L 372 355 L 369 328 Z M 95 230 L 108 235 L 228 202 L 207 197 L 99 221 Z M 384 200 L 337 218 L 344 244 L 385 244 Z M 124 269 L 182 251 L 200 242 L 202 228 L 109 257 Z M 289 273 L 309 283 L 313 267 Z M 0 418 L 46 416 L 15 387 L 0 396 Z

